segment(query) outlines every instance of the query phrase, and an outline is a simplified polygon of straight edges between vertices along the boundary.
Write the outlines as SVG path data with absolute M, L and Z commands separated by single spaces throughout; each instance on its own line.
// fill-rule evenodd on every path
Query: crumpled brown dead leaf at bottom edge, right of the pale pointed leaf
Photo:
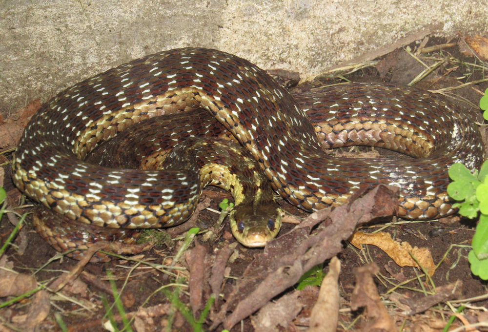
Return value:
M 356 287 L 351 295 L 351 309 L 358 310 L 366 307 L 366 316 L 369 322 L 362 331 L 387 331 L 398 332 L 395 322 L 386 311 L 385 305 L 381 302 L 380 295 L 373 281 L 373 274 L 380 270 L 376 263 L 369 263 L 354 269 L 356 276 Z

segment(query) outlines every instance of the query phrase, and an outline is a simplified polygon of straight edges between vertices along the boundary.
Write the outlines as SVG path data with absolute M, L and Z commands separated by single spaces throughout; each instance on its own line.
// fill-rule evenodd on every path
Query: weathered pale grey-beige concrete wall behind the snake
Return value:
M 302 77 L 430 27 L 485 34 L 486 0 L 3 0 L 0 112 L 160 50 L 203 46 Z

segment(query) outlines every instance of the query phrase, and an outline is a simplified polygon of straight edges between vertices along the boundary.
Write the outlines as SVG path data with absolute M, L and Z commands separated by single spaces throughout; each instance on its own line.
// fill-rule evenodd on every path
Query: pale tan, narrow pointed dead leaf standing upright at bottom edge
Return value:
M 307 332 L 335 332 L 339 319 L 339 273 L 341 261 L 332 257 L 329 272 L 322 280 L 319 298 L 310 314 L 310 328 Z

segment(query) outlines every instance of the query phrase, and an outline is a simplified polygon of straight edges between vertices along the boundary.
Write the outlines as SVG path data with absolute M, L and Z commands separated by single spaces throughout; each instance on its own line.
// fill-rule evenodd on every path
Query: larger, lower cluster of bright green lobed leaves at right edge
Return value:
M 483 280 L 488 280 L 488 162 L 485 161 L 479 173 L 474 174 L 463 164 L 454 164 L 449 168 L 449 177 L 453 180 L 447 186 L 447 194 L 457 201 L 453 207 L 459 207 L 459 214 L 476 218 L 472 250 L 468 253 L 471 272 Z

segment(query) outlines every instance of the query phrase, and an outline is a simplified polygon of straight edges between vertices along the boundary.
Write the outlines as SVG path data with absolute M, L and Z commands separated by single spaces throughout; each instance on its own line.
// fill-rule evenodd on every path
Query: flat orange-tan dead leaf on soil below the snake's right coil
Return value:
M 385 253 L 399 266 L 420 268 L 410 256 L 410 253 L 412 253 L 412 255 L 427 270 L 427 273 L 430 276 L 435 272 L 435 264 L 432 260 L 432 255 L 427 248 L 412 248 L 408 242 L 399 243 L 393 240 L 391 235 L 386 232 L 367 234 L 357 231 L 349 238 L 349 242 L 358 249 L 361 249 L 361 245 L 376 246 L 385 251 Z

